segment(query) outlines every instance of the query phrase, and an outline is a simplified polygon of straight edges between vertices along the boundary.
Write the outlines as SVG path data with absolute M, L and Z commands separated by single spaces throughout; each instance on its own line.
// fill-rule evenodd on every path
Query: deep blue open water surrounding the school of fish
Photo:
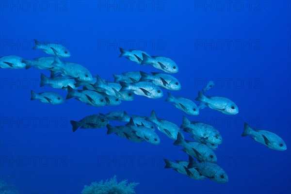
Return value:
M 70 99 L 61 105 L 30 100 L 40 88 L 31 68 L 0 69 L 0 179 L 20 194 L 78 194 L 84 185 L 117 175 L 140 184 L 137 194 L 291 193 L 291 2 L 262 1 L 1 1 L 0 56 L 47 56 L 32 50 L 33 39 L 65 45 L 69 62 L 113 81 L 113 73 L 157 71 L 118 58 L 119 47 L 141 49 L 173 59 L 181 83 L 172 94 L 194 100 L 207 93 L 239 107 L 237 115 L 209 108 L 190 120 L 219 129 L 215 151 L 228 183 L 194 180 L 164 169 L 163 158 L 188 160 L 173 140 L 157 131 L 161 144 L 134 143 L 106 128 L 72 132 L 70 120 L 124 110 L 181 125 L 185 113 L 160 99 L 135 97 L 115 107 L 92 107 Z M 125 7 L 126 6 L 126 7 Z M 145 7 L 146 6 L 146 7 Z M 282 137 L 286 151 L 272 150 L 241 137 L 243 122 Z M 118 123 L 111 123 L 117 125 Z M 186 133 L 185 133 L 186 135 Z M 190 139 L 186 135 L 186 139 Z

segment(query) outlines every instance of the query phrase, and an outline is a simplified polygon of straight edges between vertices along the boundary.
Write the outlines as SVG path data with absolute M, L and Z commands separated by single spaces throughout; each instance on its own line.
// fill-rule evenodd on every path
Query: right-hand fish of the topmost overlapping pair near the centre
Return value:
M 151 65 L 157 69 L 160 69 L 166 73 L 178 73 L 178 66 L 177 64 L 170 58 L 161 57 L 161 56 L 147 56 L 146 54 L 143 55 L 143 61 L 141 65 Z

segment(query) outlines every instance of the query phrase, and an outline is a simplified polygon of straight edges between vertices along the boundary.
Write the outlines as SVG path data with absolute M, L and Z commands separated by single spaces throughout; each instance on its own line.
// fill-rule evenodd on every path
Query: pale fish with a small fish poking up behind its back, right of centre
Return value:
M 205 102 L 205 105 L 210 109 L 225 113 L 228 115 L 234 115 L 239 113 L 237 105 L 226 97 L 206 97 L 202 92 L 198 92 L 197 101 Z

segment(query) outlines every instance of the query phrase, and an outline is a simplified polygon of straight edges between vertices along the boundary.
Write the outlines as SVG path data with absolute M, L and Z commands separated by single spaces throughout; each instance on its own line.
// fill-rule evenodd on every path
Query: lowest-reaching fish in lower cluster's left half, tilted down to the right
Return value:
M 158 134 L 152 130 L 148 129 L 143 126 L 136 126 L 135 123 L 133 122 L 133 119 L 130 118 L 129 123 L 126 124 L 127 127 L 130 127 L 133 129 L 134 133 L 141 137 L 142 139 L 146 140 L 148 143 L 153 144 L 153 145 L 159 145 L 160 144 L 160 138 Z

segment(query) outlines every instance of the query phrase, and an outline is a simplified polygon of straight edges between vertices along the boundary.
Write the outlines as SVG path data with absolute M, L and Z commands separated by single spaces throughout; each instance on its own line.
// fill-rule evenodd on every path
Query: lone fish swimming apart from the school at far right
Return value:
M 248 135 L 256 142 L 271 149 L 278 151 L 285 151 L 287 149 L 284 140 L 275 133 L 268 130 L 252 129 L 247 123 L 244 123 L 242 137 Z

